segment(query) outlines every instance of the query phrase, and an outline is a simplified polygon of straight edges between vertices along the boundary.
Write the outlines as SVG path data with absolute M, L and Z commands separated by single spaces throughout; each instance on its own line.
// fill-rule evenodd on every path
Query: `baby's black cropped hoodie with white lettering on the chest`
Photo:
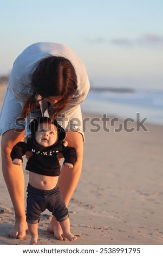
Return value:
M 34 119 L 31 123 L 38 122 L 38 118 Z M 56 121 L 53 122 L 55 125 Z M 32 156 L 27 162 L 25 169 L 30 172 L 46 175 L 58 176 L 61 173 L 61 166 L 58 158 L 64 157 L 64 162 L 74 163 L 77 160 L 76 150 L 73 147 L 64 147 L 63 139 L 66 138 L 66 132 L 60 125 L 56 125 L 58 130 L 58 141 L 50 147 L 43 147 L 35 141 L 34 131 L 30 125 L 32 137 L 28 138 L 27 143 L 18 142 L 11 151 L 11 159 L 22 159 L 27 151 L 32 151 Z

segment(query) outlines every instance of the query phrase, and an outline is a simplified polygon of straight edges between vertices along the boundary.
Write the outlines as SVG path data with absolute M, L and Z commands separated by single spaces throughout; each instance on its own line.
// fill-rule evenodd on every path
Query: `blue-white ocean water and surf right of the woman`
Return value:
M 92 88 L 82 103 L 82 111 L 136 120 L 136 113 L 147 123 L 163 125 L 163 90 Z

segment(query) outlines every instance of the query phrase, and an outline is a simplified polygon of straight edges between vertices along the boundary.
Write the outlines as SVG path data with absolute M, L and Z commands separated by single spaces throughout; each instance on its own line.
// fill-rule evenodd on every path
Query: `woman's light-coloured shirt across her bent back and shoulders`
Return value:
M 77 90 L 74 96 L 69 101 L 68 106 L 57 115 L 58 118 L 61 117 L 62 119 L 60 125 L 66 128 L 69 118 L 73 115 L 75 108 L 83 102 L 90 87 L 84 64 L 69 47 L 54 42 L 37 42 L 28 46 L 19 54 L 14 62 L 10 74 L 9 86 L 23 105 L 29 95 L 32 94 L 31 77 L 33 72 L 43 58 L 50 56 L 61 56 L 69 59 L 74 66 L 77 76 Z M 40 105 L 43 115 L 48 105 L 45 101 L 40 101 Z

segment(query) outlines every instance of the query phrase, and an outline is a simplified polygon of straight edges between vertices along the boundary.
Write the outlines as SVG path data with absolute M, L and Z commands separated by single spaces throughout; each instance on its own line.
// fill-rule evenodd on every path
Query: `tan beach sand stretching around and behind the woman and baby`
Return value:
M 1 106 L 5 90 L 0 87 Z M 136 131 L 136 124 L 130 123 L 133 132 L 117 132 L 123 126 L 120 120 L 114 126 L 107 122 L 110 131 L 104 131 L 102 116 L 85 113 L 83 118 L 92 121 L 85 125 L 82 174 L 68 207 L 77 240 L 58 241 L 49 234 L 51 214 L 45 211 L 38 224 L 38 245 L 162 245 L 163 127 L 145 123 L 148 132 Z M 24 176 L 26 187 L 25 168 Z M 0 178 L 0 245 L 29 245 L 29 233 L 24 240 L 8 237 L 15 216 L 2 168 Z

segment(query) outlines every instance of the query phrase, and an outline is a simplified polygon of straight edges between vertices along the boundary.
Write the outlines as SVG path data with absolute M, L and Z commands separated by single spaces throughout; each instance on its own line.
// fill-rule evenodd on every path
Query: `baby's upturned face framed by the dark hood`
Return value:
M 41 123 L 38 124 L 35 132 L 36 142 L 43 147 L 49 147 L 57 142 L 58 133 L 57 127 L 54 124 Z

